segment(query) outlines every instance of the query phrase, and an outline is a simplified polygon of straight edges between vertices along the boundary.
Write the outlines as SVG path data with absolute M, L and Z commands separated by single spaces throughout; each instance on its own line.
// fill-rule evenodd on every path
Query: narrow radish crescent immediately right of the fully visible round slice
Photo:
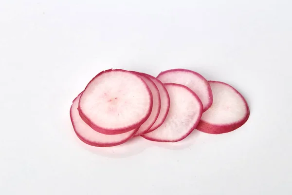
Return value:
M 155 83 L 150 78 L 145 76 L 144 73 L 138 73 L 138 72 L 134 72 L 134 71 L 131 71 L 131 72 L 137 74 L 139 77 L 141 77 L 146 82 L 149 89 L 151 90 L 152 97 L 153 97 L 152 112 L 151 112 L 150 116 L 148 117 L 148 119 L 139 127 L 138 132 L 135 134 L 135 136 L 140 136 L 140 135 L 143 135 L 145 132 L 147 132 L 150 129 L 150 127 L 154 124 L 154 122 L 156 121 L 156 119 L 159 115 L 159 112 L 160 112 L 160 94 L 159 94 L 158 88 L 155 85 Z

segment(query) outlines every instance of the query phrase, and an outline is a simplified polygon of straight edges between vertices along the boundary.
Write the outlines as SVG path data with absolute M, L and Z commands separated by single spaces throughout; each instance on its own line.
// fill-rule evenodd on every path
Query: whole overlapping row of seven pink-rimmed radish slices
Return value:
M 155 78 L 110 69 L 92 78 L 73 100 L 70 116 L 83 142 L 109 147 L 136 136 L 177 142 L 194 129 L 227 133 L 247 121 L 249 107 L 232 86 L 191 70 L 167 70 Z

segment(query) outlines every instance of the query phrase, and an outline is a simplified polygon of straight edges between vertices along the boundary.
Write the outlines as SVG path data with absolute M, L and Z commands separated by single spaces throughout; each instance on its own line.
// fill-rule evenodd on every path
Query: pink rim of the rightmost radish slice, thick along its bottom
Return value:
M 209 133 L 209 134 L 223 134 L 223 133 L 228 133 L 231 131 L 236 130 L 237 128 L 241 127 L 249 118 L 250 116 L 250 110 L 249 110 L 249 106 L 247 104 L 247 101 L 245 100 L 245 98 L 231 85 L 225 83 L 225 82 L 221 82 L 221 81 L 214 81 L 214 80 L 210 80 L 210 83 L 221 83 L 224 85 L 227 85 L 229 87 L 231 87 L 231 89 L 233 89 L 239 96 L 240 98 L 242 98 L 245 107 L 246 107 L 246 116 L 243 117 L 241 120 L 237 121 L 237 122 L 233 122 L 233 123 L 228 123 L 228 124 L 212 124 L 212 123 L 208 123 L 205 122 L 203 120 L 201 120 L 197 126 L 197 130 L 204 132 L 204 133 Z M 205 130 L 208 129 L 208 130 Z

